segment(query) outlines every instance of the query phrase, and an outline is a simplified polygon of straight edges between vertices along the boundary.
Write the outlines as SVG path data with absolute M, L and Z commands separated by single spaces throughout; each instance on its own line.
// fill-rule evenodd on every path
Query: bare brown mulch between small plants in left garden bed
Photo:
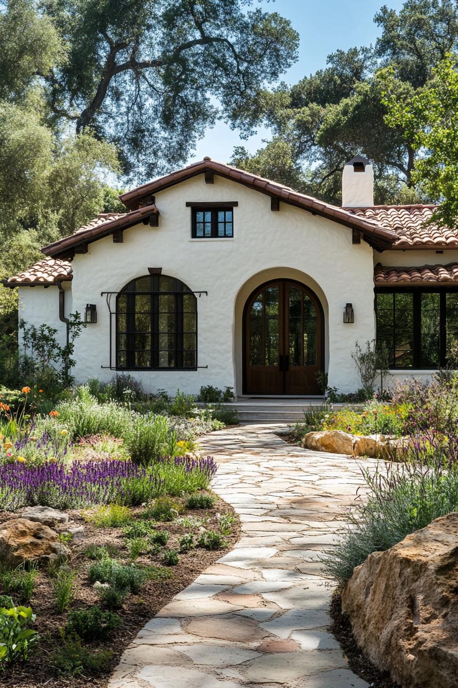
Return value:
M 216 496 L 216 495 L 214 495 Z M 183 500 L 176 499 L 178 502 Z M 141 512 L 141 508 L 132 508 L 133 514 Z M 71 603 L 71 609 L 88 608 L 93 605 L 100 605 L 100 598 L 89 583 L 87 570 L 92 563 L 84 555 L 84 550 L 91 544 L 114 546 L 119 551 L 119 558 L 128 563 L 128 549 L 126 540 L 123 537 L 121 528 L 94 528 L 82 515 L 82 510 L 69 511 L 69 517 L 74 524 L 84 525 L 84 541 L 78 545 L 70 544 L 72 550 L 71 567 L 78 572 L 76 578 L 76 596 Z M 211 510 L 186 510 L 181 516 L 205 517 L 211 515 L 211 521 L 205 528 L 214 529 L 217 526 L 217 513 L 230 513 L 235 516 L 233 509 L 222 499 L 216 499 L 214 508 Z M 17 517 L 17 515 L 15 515 Z M 13 517 L 11 513 L 0 513 L 0 522 L 4 522 Z M 72 524 L 73 525 L 73 524 Z M 178 539 L 185 533 L 199 535 L 198 528 L 185 528 L 173 522 L 154 522 L 157 530 L 166 530 L 169 533 L 166 549 L 179 550 Z M 65 532 L 65 526 L 56 526 L 59 532 Z M 0 685 L 5 688 L 37 688 L 47 686 L 48 688 L 106 688 L 108 677 L 114 667 L 119 663 L 119 657 L 130 641 L 135 638 L 137 632 L 149 621 L 154 614 L 159 612 L 164 605 L 168 604 L 172 597 L 187 587 L 205 568 L 211 566 L 217 559 L 224 555 L 225 551 L 231 550 L 240 535 L 240 522 L 235 516 L 232 533 L 225 536 L 227 548 L 225 550 L 206 550 L 195 548 L 186 554 L 179 555 L 179 564 L 168 567 L 172 572 L 172 578 L 165 581 L 146 581 L 141 586 L 139 594 L 129 594 L 124 601 L 122 609 L 115 610 L 116 614 L 122 617 L 122 627 L 104 645 L 100 643 L 88 643 L 91 649 L 109 649 L 113 652 L 113 658 L 107 667 L 106 672 L 100 676 L 58 676 L 56 670 L 52 669 L 52 656 L 56 649 L 62 645 L 60 629 L 65 626 L 67 613 L 60 614 L 56 609 L 54 591 L 51 588 L 49 575 L 45 570 L 41 570 L 35 581 L 34 592 L 30 605 L 36 622 L 34 628 L 40 633 L 40 641 L 34 648 L 27 663 L 13 665 L 0 676 Z M 137 559 L 136 563 L 140 566 L 161 566 L 161 557 L 145 555 Z M 100 605 L 102 606 L 102 605 Z

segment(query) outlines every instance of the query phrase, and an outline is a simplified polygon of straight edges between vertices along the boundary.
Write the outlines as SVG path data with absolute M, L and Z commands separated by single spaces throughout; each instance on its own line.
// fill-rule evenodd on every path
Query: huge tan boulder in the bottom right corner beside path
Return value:
M 354 570 L 342 610 L 369 659 L 402 688 L 458 685 L 458 513 Z

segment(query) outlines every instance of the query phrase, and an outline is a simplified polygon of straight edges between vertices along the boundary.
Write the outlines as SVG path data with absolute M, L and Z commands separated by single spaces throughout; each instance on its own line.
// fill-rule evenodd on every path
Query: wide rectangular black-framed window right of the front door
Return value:
M 458 354 L 458 290 L 376 291 L 377 342 L 391 368 L 436 369 Z

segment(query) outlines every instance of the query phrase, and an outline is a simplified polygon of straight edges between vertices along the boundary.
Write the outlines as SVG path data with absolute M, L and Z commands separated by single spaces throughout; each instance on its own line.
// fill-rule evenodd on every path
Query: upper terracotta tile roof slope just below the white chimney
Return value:
M 374 206 L 348 208 L 358 217 L 379 222 L 398 235 L 393 248 L 458 248 L 458 228 L 453 231 L 426 224 L 436 206 Z

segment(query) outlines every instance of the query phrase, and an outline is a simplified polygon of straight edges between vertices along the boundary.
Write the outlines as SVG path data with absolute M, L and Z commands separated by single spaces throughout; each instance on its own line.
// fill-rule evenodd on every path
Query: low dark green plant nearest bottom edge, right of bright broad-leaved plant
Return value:
M 113 652 L 109 650 L 94 652 L 84 647 L 77 636 L 62 634 L 61 647 L 51 656 L 51 666 L 66 676 L 98 676 L 108 669 L 112 657 Z

